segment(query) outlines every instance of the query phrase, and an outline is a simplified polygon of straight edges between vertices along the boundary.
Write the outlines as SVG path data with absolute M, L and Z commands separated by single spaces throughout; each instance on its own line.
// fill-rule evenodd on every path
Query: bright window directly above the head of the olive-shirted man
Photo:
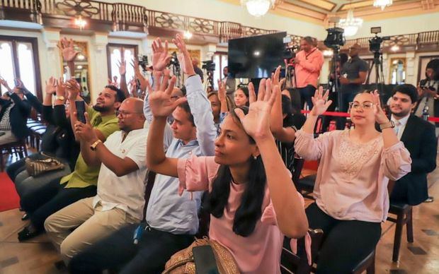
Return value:
M 108 44 L 107 56 L 108 56 L 108 78 L 118 77 L 118 83 L 120 83 L 119 75 L 119 62 L 122 57 L 122 48 L 124 49 L 125 61 L 127 63 L 127 82 L 134 77 L 134 68 L 132 68 L 132 59 L 137 58 L 137 45 L 132 44 Z

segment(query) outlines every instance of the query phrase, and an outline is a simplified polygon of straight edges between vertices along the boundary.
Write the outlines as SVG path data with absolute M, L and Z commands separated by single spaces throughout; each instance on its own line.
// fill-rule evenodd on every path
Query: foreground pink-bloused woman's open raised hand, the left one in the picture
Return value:
M 175 83 L 176 76 L 171 78 L 171 83 L 169 83 L 169 85 L 168 79 L 164 76 L 160 88 L 157 88 L 156 90 L 152 90 L 151 87 L 148 88 L 149 107 L 151 107 L 151 112 L 154 117 L 169 117 L 179 104 L 187 100 L 186 97 L 178 98 L 175 101 L 171 100 L 171 93 Z

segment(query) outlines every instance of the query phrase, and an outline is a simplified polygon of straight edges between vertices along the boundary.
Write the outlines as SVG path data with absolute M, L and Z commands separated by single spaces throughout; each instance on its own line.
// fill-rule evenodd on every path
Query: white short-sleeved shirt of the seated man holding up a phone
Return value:
M 120 208 L 132 217 L 142 220 L 144 208 L 144 180 L 147 174 L 148 129 L 130 131 L 122 142 L 122 131 L 108 136 L 104 145 L 114 155 L 133 160 L 135 172 L 118 177 L 106 165 L 101 165 L 98 177 L 98 194 L 93 199 L 93 207 L 101 203 L 102 210 Z

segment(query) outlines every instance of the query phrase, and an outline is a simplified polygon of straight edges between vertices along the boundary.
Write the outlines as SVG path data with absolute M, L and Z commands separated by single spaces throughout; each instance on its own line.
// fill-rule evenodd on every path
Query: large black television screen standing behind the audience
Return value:
M 287 32 L 229 40 L 228 66 L 234 78 L 270 78 L 283 64 Z

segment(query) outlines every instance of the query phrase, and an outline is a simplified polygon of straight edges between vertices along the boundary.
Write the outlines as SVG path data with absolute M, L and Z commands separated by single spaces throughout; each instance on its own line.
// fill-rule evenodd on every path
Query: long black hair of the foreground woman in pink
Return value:
M 242 109 L 244 114 L 249 112 L 248 107 L 236 108 Z M 240 123 L 234 109 L 229 113 L 232 114 L 236 123 Z M 249 141 L 256 143 L 250 136 Z M 256 157 L 256 159 L 251 157 L 249 161 L 251 172 L 247 174 L 245 190 L 241 196 L 241 203 L 236 209 L 232 227 L 233 232 L 242 237 L 248 237 L 253 233 L 256 223 L 261 219 L 267 179 L 261 156 Z M 215 218 L 221 218 L 224 214 L 224 208 L 229 201 L 232 181 L 230 168 L 227 165 L 221 165 L 212 182 L 212 191 L 210 191 L 207 200 L 207 208 Z

